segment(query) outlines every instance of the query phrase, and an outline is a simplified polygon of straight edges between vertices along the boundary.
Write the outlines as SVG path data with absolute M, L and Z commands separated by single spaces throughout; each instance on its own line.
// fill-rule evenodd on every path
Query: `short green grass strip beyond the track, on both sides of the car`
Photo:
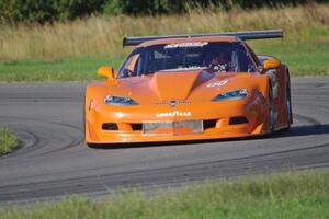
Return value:
M 273 55 L 287 64 L 292 76 L 329 76 L 329 43 L 288 44 L 280 39 L 250 43 L 258 54 Z M 124 56 L 71 57 L 55 60 L 18 60 L 0 62 L 0 81 L 91 81 L 99 80 L 100 66 L 118 68 Z

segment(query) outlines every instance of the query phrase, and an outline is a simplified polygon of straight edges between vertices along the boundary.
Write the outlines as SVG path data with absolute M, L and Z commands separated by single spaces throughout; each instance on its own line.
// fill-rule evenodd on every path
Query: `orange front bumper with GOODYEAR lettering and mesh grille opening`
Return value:
M 86 114 L 86 141 L 89 143 L 158 142 L 262 135 L 268 132 L 265 108 L 265 104 L 258 96 L 239 101 L 182 104 L 175 107 L 99 105 Z M 241 123 L 243 118 L 246 119 Z M 235 119 L 240 122 L 232 123 Z M 144 122 L 168 120 L 202 120 L 203 131 L 175 135 L 145 135 L 143 131 Z M 116 129 L 106 129 L 104 124 L 115 124 Z

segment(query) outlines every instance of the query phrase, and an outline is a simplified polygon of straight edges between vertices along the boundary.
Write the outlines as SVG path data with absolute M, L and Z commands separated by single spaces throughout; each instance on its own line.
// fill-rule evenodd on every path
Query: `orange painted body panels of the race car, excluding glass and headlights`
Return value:
M 163 43 L 235 41 L 237 39 L 234 37 L 159 39 L 143 43 L 137 47 Z M 135 64 L 136 59 L 133 59 L 129 68 L 133 69 Z M 272 84 L 274 80 L 276 81 Z M 271 131 L 269 89 L 274 91 L 274 87 L 277 89 L 274 111 L 275 115 L 279 115 L 275 117 L 275 129 L 288 126 L 285 104 L 286 81 L 287 67 L 281 65 L 279 69 L 269 70 L 266 73 L 261 73 L 259 69 L 256 72 L 228 73 L 185 70 L 170 73 L 155 72 L 150 76 L 90 84 L 86 90 L 86 141 L 89 143 L 179 141 L 268 134 Z M 246 99 L 211 101 L 220 93 L 238 89 L 247 89 Z M 106 95 L 127 96 L 138 105 L 106 105 L 104 103 Z M 171 101 L 178 103 L 172 106 Z M 91 102 L 98 104 L 90 107 Z M 235 122 L 238 118 L 242 118 L 243 123 Z M 144 122 L 193 119 L 203 122 L 203 132 L 191 134 L 191 129 L 186 127 L 157 129 L 150 136 L 143 132 Z M 103 129 L 105 123 L 116 124 L 117 129 Z M 171 132 L 172 135 L 163 135 Z

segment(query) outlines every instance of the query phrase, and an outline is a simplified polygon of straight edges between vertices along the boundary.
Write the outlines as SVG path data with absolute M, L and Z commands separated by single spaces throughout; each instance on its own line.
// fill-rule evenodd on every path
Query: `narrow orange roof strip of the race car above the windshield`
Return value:
M 190 37 L 190 38 L 162 38 L 155 41 L 144 42 L 136 47 L 147 47 L 160 44 L 180 44 L 180 43 L 205 43 L 205 42 L 241 42 L 241 39 L 234 36 L 198 36 L 198 37 Z

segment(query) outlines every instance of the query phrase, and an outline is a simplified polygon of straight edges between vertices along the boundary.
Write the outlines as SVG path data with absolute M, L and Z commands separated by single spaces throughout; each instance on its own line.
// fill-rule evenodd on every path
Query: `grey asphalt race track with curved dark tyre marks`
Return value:
M 0 124 L 22 148 L 0 158 L 0 205 L 122 187 L 329 166 L 329 78 L 292 80 L 295 123 L 271 138 L 91 149 L 83 142 L 86 84 L 0 84 Z

